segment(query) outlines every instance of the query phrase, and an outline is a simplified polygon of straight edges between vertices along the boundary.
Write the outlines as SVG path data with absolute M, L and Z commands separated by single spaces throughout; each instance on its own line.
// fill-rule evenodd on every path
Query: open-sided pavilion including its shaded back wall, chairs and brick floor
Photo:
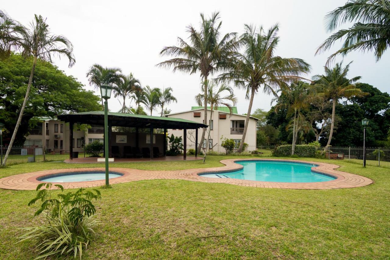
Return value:
M 57 116 L 57 118 L 69 123 L 69 160 L 66 160 L 66 162 L 88 163 L 92 160 L 97 162 L 96 157 L 74 158 L 73 160 L 73 128 L 75 123 L 103 127 L 104 111 L 64 114 Z M 134 128 L 135 132 L 113 132 L 113 127 Z M 114 160 L 119 162 L 186 160 L 187 130 L 195 129 L 195 142 L 198 144 L 198 128 L 203 127 L 207 127 L 207 125 L 186 119 L 108 112 L 108 156 L 110 158 L 117 157 Z M 146 131 L 141 130 L 145 128 Z M 155 134 L 154 129 L 163 129 L 163 134 Z M 183 129 L 183 156 L 166 156 L 167 129 Z M 193 159 L 197 159 L 197 156 L 198 150 L 195 146 L 195 157 Z

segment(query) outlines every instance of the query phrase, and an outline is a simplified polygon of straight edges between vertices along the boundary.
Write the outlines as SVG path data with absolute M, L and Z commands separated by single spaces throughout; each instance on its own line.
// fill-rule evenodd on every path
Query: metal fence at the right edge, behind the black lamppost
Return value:
M 333 147 L 326 151 L 325 157 L 333 160 L 347 160 L 363 164 L 363 147 Z M 366 147 L 366 165 L 390 168 L 390 148 Z

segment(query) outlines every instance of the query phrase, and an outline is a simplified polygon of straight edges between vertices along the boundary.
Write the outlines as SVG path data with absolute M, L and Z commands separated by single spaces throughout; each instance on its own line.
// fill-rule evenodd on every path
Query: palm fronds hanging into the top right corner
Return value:
M 330 55 L 328 62 L 338 54 L 346 55 L 354 50 L 374 51 L 378 61 L 390 46 L 389 0 L 349 0 L 329 12 L 325 20 L 329 31 L 343 23 L 356 22 L 348 29 L 333 33 L 319 46 L 316 54 L 329 50 L 336 41 L 344 39 L 342 48 Z

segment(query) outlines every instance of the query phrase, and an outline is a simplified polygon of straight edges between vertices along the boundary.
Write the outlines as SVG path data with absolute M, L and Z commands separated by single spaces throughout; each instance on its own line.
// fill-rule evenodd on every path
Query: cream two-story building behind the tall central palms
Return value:
M 213 109 L 213 117 L 210 120 L 211 109 L 207 110 L 207 125 L 210 128 L 209 149 L 213 148 L 215 144 L 220 145 L 220 139 L 224 138 L 233 139 L 236 142 L 236 147 L 239 146 L 242 135 L 244 132 L 246 115 L 238 114 L 237 107 L 232 107 L 232 114 L 227 107 L 219 107 L 218 110 Z M 171 113 L 165 115 L 166 117 L 182 118 L 199 123 L 203 123 L 204 119 L 204 107 L 191 107 L 191 110 Z M 248 122 L 248 129 L 246 131 L 245 142 L 251 148 L 256 147 L 256 122 L 257 118 L 250 117 Z M 183 136 L 181 129 L 169 129 L 168 135 Z M 194 134 L 194 133 L 192 133 Z M 187 134 L 188 135 L 188 134 Z M 202 131 L 198 132 L 198 140 L 202 137 Z M 203 141 L 203 147 L 206 147 L 207 131 L 205 139 Z M 191 145 L 190 143 L 188 143 Z M 193 144 L 192 144 L 193 145 Z

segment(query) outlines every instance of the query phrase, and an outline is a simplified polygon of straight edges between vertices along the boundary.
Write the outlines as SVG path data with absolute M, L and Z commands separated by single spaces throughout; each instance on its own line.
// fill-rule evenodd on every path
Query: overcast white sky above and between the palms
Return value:
M 177 104 L 168 106 L 172 112 L 189 110 L 196 105 L 200 75 L 186 75 L 160 69 L 155 65 L 164 61 L 159 52 L 163 46 L 175 45 L 177 37 L 188 37 L 186 26 L 198 27 L 200 12 L 206 15 L 220 11 L 222 32 L 243 32 L 245 23 L 265 28 L 280 25 L 280 44 L 276 54 L 282 57 L 302 58 L 312 65 L 307 77 L 323 73 L 326 57 L 331 52 L 314 56 L 317 46 L 330 34 L 324 27 L 324 16 L 346 0 L 241 0 L 241 1 L 3 1 L 1 9 L 15 20 L 27 25 L 34 14 L 47 17 L 51 32 L 68 37 L 74 45 L 76 64 L 67 68 L 67 62 L 55 59 L 55 64 L 78 78 L 86 89 L 88 68 L 99 63 L 132 72 L 142 85 L 172 87 Z M 351 53 L 344 62 L 354 61 L 349 77 L 362 76 L 366 82 L 381 91 L 390 91 L 387 79 L 390 51 L 379 62 L 372 53 Z M 98 92 L 96 92 L 99 94 Z M 246 113 L 248 101 L 244 91 L 235 91 L 239 99 L 238 112 Z M 254 100 L 254 107 L 269 110 L 271 97 L 262 93 Z M 129 103 L 129 101 L 127 102 Z M 133 105 L 133 104 L 132 104 Z M 109 100 L 111 111 L 119 110 L 118 100 Z M 158 112 L 154 112 L 157 115 Z

